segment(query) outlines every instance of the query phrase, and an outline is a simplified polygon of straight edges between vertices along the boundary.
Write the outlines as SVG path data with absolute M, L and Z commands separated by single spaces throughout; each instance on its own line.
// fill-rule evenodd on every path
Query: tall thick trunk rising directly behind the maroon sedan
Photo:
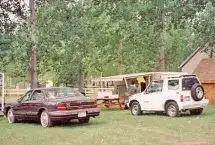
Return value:
M 36 0 L 30 0 L 31 46 L 30 46 L 29 73 L 30 73 L 31 86 L 33 89 L 37 87 L 36 19 L 37 19 Z

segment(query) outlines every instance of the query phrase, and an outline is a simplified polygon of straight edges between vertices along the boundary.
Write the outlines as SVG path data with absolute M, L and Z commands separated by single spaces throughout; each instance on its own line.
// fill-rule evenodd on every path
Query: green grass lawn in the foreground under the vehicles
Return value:
M 87 125 L 42 128 L 36 123 L 8 124 L 0 118 L 0 145 L 214 145 L 215 106 L 203 116 L 134 117 L 129 111 L 102 110 Z

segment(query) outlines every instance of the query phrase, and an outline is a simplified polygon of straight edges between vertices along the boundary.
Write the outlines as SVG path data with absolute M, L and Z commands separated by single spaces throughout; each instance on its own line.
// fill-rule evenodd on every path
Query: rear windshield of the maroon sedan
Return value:
M 73 97 L 84 97 L 79 91 L 73 88 L 50 88 L 46 89 L 45 93 L 49 99 L 61 99 L 61 98 L 73 98 Z

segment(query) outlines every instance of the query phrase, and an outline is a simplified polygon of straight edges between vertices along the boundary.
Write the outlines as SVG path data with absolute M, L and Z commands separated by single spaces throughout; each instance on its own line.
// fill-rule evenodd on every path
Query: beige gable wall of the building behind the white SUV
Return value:
M 192 74 L 202 59 L 209 58 L 206 53 L 200 51 L 196 53 L 183 67 L 182 72 Z

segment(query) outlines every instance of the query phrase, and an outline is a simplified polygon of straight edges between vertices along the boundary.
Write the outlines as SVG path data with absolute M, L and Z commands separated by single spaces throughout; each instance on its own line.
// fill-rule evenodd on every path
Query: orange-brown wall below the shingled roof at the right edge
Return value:
M 215 104 L 215 83 L 203 83 L 205 96 L 210 103 Z

